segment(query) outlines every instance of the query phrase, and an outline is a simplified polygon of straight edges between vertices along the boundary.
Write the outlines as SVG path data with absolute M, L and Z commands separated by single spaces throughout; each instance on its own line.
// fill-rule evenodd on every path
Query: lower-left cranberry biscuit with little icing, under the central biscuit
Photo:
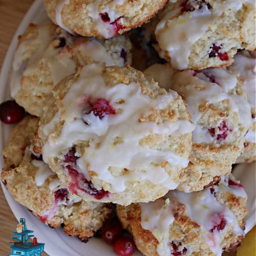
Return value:
M 13 198 L 42 222 L 54 228 L 63 224 L 65 233 L 86 241 L 101 227 L 111 209 L 106 204 L 82 201 L 69 193 L 40 156 L 30 151 L 37 123 L 38 118 L 27 116 L 11 132 L 4 149 L 6 164 L 1 179 Z M 23 141 L 19 140 L 21 133 L 26 138 Z M 14 161 L 16 167 L 7 168 L 16 155 L 19 156 Z

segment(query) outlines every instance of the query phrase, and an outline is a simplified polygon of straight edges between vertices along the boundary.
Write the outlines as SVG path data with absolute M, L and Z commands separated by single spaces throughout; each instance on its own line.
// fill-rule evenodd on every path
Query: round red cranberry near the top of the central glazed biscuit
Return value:
M 91 102 L 90 99 L 87 100 L 87 106 L 84 110 L 85 114 L 93 112 L 95 116 L 98 116 L 99 119 L 102 119 L 106 115 L 115 115 L 116 110 L 106 99 L 96 99 L 95 102 Z M 86 122 L 86 120 L 85 120 Z

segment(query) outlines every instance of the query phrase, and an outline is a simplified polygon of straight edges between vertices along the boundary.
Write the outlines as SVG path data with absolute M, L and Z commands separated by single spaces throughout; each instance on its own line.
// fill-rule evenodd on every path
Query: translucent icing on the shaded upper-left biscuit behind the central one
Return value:
M 64 77 L 74 74 L 77 65 L 87 64 L 85 62 L 104 62 L 106 66 L 115 65 L 110 52 L 96 39 L 83 40 L 77 36 L 71 37 L 66 33 L 63 37 L 66 39 L 67 47 L 61 50 L 54 48 L 50 44 L 53 36 L 49 35 L 49 26 L 47 24 L 38 27 L 38 36 L 36 39 L 32 41 L 26 40 L 18 46 L 13 61 L 14 75 L 11 81 L 12 97 L 20 89 L 20 79 L 22 76 L 29 76 L 31 72 L 37 69 L 39 60 L 47 63 L 53 85 L 57 84 Z M 38 49 L 27 62 L 23 62 L 22 53 L 31 44 L 38 45 Z M 79 64 L 76 63 L 77 61 L 74 58 L 77 59 Z

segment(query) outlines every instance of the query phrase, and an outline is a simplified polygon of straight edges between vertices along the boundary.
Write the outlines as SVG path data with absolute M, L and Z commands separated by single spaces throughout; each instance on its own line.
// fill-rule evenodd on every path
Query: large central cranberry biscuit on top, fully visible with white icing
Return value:
M 178 186 L 194 125 L 180 96 L 131 67 L 87 65 L 53 91 L 44 160 L 85 200 L 148 202 Z

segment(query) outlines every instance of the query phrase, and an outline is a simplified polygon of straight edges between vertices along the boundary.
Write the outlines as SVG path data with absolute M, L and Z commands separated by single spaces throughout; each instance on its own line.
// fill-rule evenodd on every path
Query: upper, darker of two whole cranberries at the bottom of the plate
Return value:
M 101 237 L 108 244 L 113 244 L 122 234 L 122 225 L 117 220 L 105 222 L 101 228 Z

